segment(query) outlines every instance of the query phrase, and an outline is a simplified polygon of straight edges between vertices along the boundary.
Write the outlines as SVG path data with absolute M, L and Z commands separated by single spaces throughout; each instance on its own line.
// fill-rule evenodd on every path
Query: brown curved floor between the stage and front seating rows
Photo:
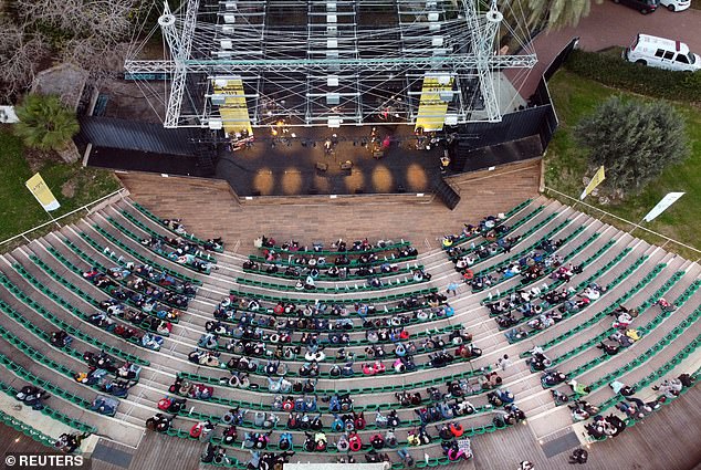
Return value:
M 133 199 L 163 218 L 181 218 L 201 238 L 222 237 L 227 250 L 242 247 L 249 253 L 260 234 L 280 241 L 324 243 L 343 238 L 373 241 L 411 240 L 421 252 L 439 248 L 437 238 L 462 230 L 462 223 L 506 211 L 537 196 L 540 161 L 485 173 L 478 180 L 459 184 L 462 200 L 454 210 L 440 200 L 429 203 L 397 202 L 372 195 L 332 201 L 324 197 L 269 199 L 255 202 L 233 198 L 228 188 L 198 179 L 160 178 L 158 175 L 118 175 Z M 425 241 L 428 246 L 425 246 Z

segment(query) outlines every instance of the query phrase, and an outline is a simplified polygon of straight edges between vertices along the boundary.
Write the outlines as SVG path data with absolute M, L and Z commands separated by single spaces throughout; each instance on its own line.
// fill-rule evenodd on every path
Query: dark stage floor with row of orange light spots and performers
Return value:
M 336 137 L 327 128 L 296 129 L 275 139 L 258 129 L 252 147 L 220 154 L 216 175 L 242 196 L 428 192 L 440 179 L 443 148 L 417 150 L 411 130 L 378 127 L 376 140 L 389 137 L 389 147 L 374 157 L 367 126 Z M 326 140 L 335 142 L 331 152 Z

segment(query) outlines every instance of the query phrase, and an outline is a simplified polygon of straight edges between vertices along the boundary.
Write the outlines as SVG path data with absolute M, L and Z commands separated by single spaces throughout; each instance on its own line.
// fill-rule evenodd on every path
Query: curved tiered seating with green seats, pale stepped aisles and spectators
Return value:
M 362 446 L 350 452 L 355 459 L 365 460 L 376 435 L 391 439 L 387 431 L 393 428 L 397 448 L 408 446 L 421 460 L 417 467 L 425 468 L 450 463 L 441 441 L 451 441 L 452 435 L 439 436 L 436 427 L 446 426 L 449 432 L 459 422 L 463 434 L 458 440 L 479 439 L 521 419 L 502 408 L 494 390 L 519 389 L 516 404 L 536 432 L 545 421 L 548 429 L 572 425 L 567 407 L 550 400 L 543 405 L 551 389 L 541 387 L 541 370 L 532 368 L 527 376 L 492 370 L 505 352 L 512 358 L 521 354 L 510 366 L 520 370 L 540 346 L 537 354 L 548 357 L 550 367 L 587 385 L 586 398 L 607 411 L 621 399 L 607 387 L 613 380 L 641 390 L 660 378 L 697 372 L 688 369 L 686 358 L 699 345 L 692 328 L 701 314 L 698 267 L 556 202 L 525 201 L 503 217 L 484 218 L 446 237 L 443 249 L 435 252 L 414 252 L 404 240 L 346 251 L 350 271 L 336 278 L 320 269 L 314 289 L 299 289 L 296 281 L 306 283 L 320 257 L 325 265 L 333 263 L 342 254 L 337 248 L 260 240 L 260 251 L 243 257 L 185 234 L 177 223 L 124 201 L 3 257 L 0 368 L 7 374 L 0 389 L 8 395 L 27 384 L 46 389 L 52 395 L 42 410 L 46 417 L 126 445 L 138 442 L 160 405 L 166 408 L 161 412 L 174 416 L 167 434 L 195 441 L 195 431 L 210 421 L 215 430 L 208 439 L 221 446 L 227 459 L 210 456 L 208 463 L 241 469 L 251 458 L 242 448 L 247 434 L 258 434 L 262 441 L 270 432 L 265 451 L 278 453 L 286 450 L 280 442 L 290 434 L 301 461 L 345 456 L 336 448 L 343 435 L 338 427 L 349 426 L 344 415 L 352 418 L 355 411 L 355 418 L 363 414 L 367 420 L 357 430 Z M 200 248 L 208 243 L 209 250 L 188 254 L 212 269 L 174 260 L 168 250 L 180 242 L 164 240 L 158 250 L 142 243 L 176 236 Z M 368 257 L 360 260 L 363 254 Z M 474 260 L 456 273 L 456 263 L 465 257 Z M 543 263 L 537 275 L 526 278 L 524 270 L 513 269 L 547 257 L 556 262 Z M 316 262 L 310 268 L 312 259 Z M 269 270 L 272 263 L 276 272 Z M 394 267 L 383 272 L 384 264 Z M 297 273 L 285 274 L 287 268 Z M 358 273 L 360 268 L 367 271 Z M 473 279 L 464 275 L 468 270 Z M 421 275 L 415 279 L 417 271 Z M 473 285 L 471 293 L 443 295 L 450 282 L 488 276 L 491 283 Z M 368 285 L 367 279 L 380 284 Z M 145 306 L 139 294 L 150 292 L 158 299 Z M 673 299 L 674 311 L 656 305 L 662 296 Z M 117 302 L 139 314 L 137 324 L 118 310 L 104 314 Z M 631 305 L 637 306 L 629 326 L 636 341 L 616 355 L 604 354 L 596 346 L 616 332 L 609 314 Z M 158 322 L 169 323 L 170 330 L 158 330 Z M 125 334 L 126 328 L 133 334 Z M 57 331 L 72 343 L 56 344 Z M 144 343 L 144 336 L 159 336 L 159 346 Z M 133 380 L 128 393 L 116 398 L 114 416 L 94 405 L 100 395 L 114 398 L 107 382 L 75 380 L 88 370 L 90 355 L 84 353 L 98 356 L 101 351 L 117 365 L 140 367 L 148 377 Z M 286 370 L 284 378 L 281 370 Z M 503 377 L 502 384 L 490 384 L 493 372 Z M 116 379 L 114 372 L 105 377 Z M 571 401 L 578 398 L 565 386 L 556 389 Z M 345 394 L 353 399 L 353 411 L 332 412 L 325 398 L 335 401 L 332 397 Z M 180 397 L 187 404 L 174 401 Z M 318 440 L 317 431 L 326 435 L 324 452 L 304 447 L 307 429 L 289 428 L 289 406 L 297 407 L 293 414 L 306 410 L 310 426 L 318 416 L 320 429 L 308 431 L 312 441 Z M 234 442 L 222 421 L 236 415 L 232 409 L 248 410 L 237 421 Z M 421 441 L 422 424 L 430 442 Z

